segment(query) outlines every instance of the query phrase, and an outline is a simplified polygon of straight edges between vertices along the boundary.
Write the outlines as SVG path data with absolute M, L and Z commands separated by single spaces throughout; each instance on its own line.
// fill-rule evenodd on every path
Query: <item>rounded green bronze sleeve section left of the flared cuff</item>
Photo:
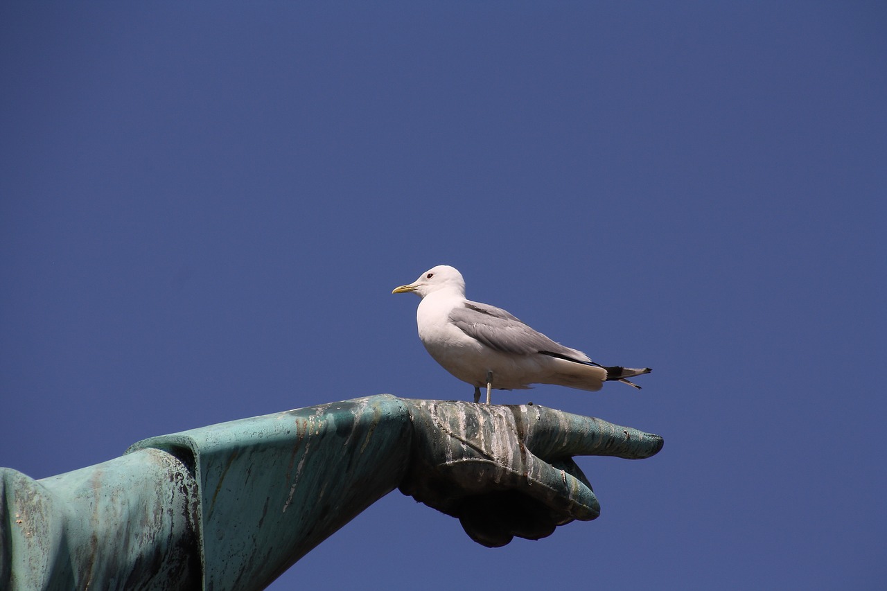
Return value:
M 34 480 L 0 469 L 0 588 L 189 589 L 200 585 L 196 489 L 146 449 Z

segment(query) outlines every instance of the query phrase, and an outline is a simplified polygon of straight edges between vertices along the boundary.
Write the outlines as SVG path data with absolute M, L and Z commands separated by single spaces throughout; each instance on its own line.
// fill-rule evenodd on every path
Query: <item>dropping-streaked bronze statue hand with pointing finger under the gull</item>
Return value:
M 600 505 L 574 455 L 648 458 L 657 435 L 536 405 L 404 399 L 412 458 L 400 490 L 458 517 L 483 546 L 545 538 Z

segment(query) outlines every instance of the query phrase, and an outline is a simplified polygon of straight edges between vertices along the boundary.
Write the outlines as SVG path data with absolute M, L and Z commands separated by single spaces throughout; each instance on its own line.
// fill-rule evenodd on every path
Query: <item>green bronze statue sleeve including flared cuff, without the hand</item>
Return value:
M 411 441 L 383 395 L 153 437 L 39 481 L 0 470 L 0 587 L 261 589 L 394 490 Z

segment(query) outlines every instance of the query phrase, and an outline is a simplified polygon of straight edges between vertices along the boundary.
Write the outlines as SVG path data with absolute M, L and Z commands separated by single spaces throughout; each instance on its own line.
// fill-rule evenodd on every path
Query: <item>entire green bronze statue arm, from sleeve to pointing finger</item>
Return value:
M 573 455 L 661 447 L 541 406 L 389 395 L 153 437 L 58 477 L 0 471 L 0 588 L 261 589 L 398 486 L 485 546 L 535 540 L 600 511 Z

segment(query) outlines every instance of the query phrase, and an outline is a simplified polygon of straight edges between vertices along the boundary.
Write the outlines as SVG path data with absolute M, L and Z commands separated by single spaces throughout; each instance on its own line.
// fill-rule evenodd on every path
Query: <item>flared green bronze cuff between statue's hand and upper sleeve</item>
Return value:
M 412 427 L 382 395 L 153 437 L 192 458 L 207 589 L 261 589 L 394 490 Z

